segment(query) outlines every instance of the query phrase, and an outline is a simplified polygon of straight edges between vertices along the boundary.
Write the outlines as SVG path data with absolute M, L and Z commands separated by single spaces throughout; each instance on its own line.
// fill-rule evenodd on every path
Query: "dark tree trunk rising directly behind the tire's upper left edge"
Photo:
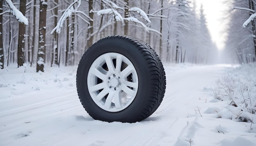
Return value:
M 93 19 L 93 15 L 94 13 L 90 13 L 90 11 L 93 9 L 93 0 L 89 0 L 89 16 L 90 18 Z M 90 21 L 90 28 L 88 29 L 88 42 L 87 42 L 87 48 L 89 48 L 90 46 L 92 46 L 93 44 L 93 21 Z

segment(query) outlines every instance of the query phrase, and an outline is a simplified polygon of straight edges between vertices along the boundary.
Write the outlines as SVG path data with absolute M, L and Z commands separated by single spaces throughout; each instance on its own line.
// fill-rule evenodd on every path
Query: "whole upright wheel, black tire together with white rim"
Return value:
M 155 51 L 124 35 L 103 38 L 79 62 L 76 88 L 88 114 L 106 122 L 139 122 L 161 104 L 166 77 Z

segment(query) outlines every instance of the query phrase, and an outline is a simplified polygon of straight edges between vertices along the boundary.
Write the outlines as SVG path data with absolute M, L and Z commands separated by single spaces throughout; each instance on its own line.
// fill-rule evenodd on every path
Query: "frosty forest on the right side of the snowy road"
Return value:
M 223 56 L 227 62 L 249 63 L 256 61 L 256 0 L 226 1 L 230 6 L 227 36 Z

